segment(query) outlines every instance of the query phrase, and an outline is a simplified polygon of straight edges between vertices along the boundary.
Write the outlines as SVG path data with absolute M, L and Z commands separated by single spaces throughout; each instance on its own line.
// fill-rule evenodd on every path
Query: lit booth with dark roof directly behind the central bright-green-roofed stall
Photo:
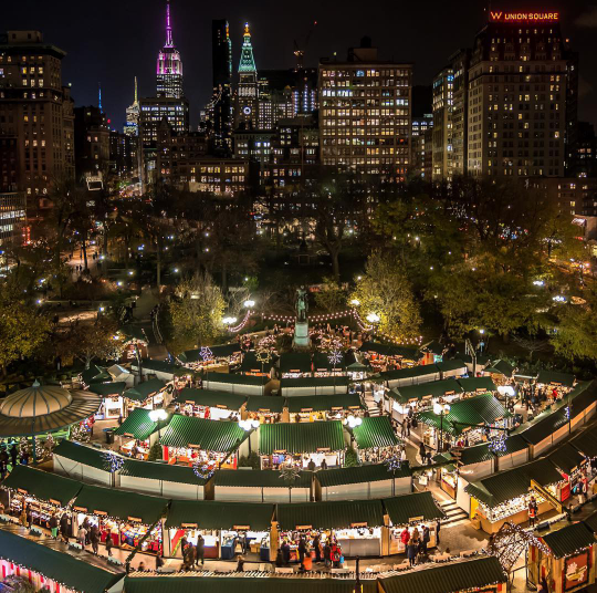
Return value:
M 286 399 L 290 420 L 343 420 L 348 414 L 359 416 L 365 406 L 357 394 L 306 395 Z

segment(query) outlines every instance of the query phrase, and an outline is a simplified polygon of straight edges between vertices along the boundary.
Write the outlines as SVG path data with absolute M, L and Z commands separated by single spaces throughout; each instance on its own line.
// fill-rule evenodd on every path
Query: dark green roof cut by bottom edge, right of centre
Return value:
M 507 576 L 495 556 L 459 560 L 379 579 L 385 593 L 455 593 L 505 582 Z

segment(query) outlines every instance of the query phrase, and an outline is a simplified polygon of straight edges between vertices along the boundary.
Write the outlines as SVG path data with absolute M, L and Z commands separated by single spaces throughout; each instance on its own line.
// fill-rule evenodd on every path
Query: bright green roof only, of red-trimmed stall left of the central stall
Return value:
M 163 433 L 160 444 L 167 447 L 193 446 L 205 451 L 235 450 L 249 436 L 237 423 L 207 420 L 175 414 Z

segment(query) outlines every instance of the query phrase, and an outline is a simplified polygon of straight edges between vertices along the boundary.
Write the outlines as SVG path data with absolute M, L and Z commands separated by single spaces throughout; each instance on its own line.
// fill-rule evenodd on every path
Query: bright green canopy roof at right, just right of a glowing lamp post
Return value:
M 433 412 L 421 412 L 417 418 L 429 426 L 440 428 L 450 435 L 460 435 L 467 427 L 491 425 L 509 416 L 502 404 L 491 394 L 469 397 L 455 402 L 443 419 Z

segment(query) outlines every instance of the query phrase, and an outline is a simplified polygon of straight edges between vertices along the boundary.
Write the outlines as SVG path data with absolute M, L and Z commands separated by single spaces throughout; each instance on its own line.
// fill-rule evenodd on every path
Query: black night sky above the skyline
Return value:
M 118 129 L 133 102 L 133 81 L 140 96 L 155 95 L 155 67 L 165 41 L 165 0 L 7 0 L 2 28 L 39 29 L 44 41 L 67 52 L 63 83 L 72 83 L 77 105 L 97 104 L 102 83 L 104 111 Z M 317 25 L 305 65 L 320 56 L 345 58 L 363 35 L 373 38 L 381 56 L 415 63 L 415 84 L 430 84 L 449 55 L 471 46 L 486 21 L 482 0 L 171 0 L 174 41 L 181 53 L 185 92 L 191 123 L 211 93 L 211 20 L 230 22 L 233 71 L 238 69 L 242 24 L 249 21 L 258 71 L 294 65 L 293 39 Z M 597 124 L 597 1 L 566 0 L 538 4 L 535 0 L 493 0 L 493 10 L 557 10 L 564 37 L 580 53 L 579 118 Z

